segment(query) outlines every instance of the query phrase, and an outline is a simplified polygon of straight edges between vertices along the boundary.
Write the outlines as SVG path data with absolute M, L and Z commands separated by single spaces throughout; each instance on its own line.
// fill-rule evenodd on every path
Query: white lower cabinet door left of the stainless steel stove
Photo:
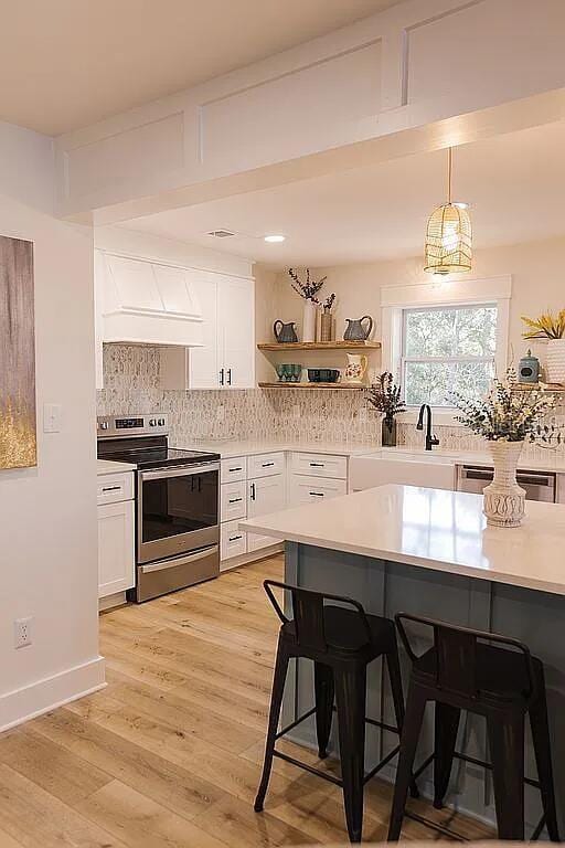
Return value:
M 135 585 L 134 501 L 98 507 L 98 597 Z

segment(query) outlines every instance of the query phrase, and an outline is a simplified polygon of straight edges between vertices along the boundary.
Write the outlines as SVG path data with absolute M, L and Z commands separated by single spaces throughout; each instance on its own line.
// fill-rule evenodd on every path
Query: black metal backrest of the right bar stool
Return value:
M 481 695 L 478 686 L 477 649 L 481 643 L 502 647 L 509 653 L 519 651 L 523 655 L 525 679 L 527 690 L 525 698 L 534 695 L 536 676 L 533 669 L 532 655 L 526 645 L 509 636 L 501 636 L 487 630 L 475 630 L 469 627 L 459 627 L 448 622 L 434 618 L 423 618 L 408 613 L 397 613 L 394 616 L 401 639 L 411 660 L 416 662 L 419 657 L 414 651 L 405 622 L 425 625 L 433 630 L 434 647 L 436 650 L 435 685 L 438 689 L 460 695 L 467 698 L 477 698 Z

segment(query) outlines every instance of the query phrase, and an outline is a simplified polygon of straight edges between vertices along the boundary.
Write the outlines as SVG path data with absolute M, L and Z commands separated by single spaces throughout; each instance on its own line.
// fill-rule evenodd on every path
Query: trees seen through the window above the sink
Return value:
M 449 393 L 484 394 L 494 375 L 497 306 L 405 309 L 402 372 L 406 404 L 450 406 Z

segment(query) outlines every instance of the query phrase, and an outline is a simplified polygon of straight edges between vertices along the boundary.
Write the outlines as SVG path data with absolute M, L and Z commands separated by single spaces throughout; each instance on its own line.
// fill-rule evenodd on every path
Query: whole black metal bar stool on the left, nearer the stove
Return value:
M 349 597 L 321 594 L 271 580 L 266 580 L 263 585 L 282 624 L 279 630 L 273 680 L 265 763 L 255 799 L 255 810 L 260 812 L 263 809 L 273 757 L 278 756 L 342 787 L 349 837 L 352 842 L 359 842 L 363 826 L 364 784 L 383 768 L 399 750 L 399 746 L 396 745 L 365 775 L 365 721 L 398 733 L 404 720 L 404 699 L 394 622 L 388 618 L 367 615 L 358 601 Z M 292 618 L 287 618 L 284 614 L 274 595 L 273 587 L 290 593 Z M 339 603 L 342 606 L 326 604 L 326 602 Z M 365 718 L 366 667 L 373 659 L 381 656 L 385 658 L 388 669 L 396 728 Z M 303 657 L 315 662 L 316 706 L 287 728 L 277 732 L 288 662 L 292 657 Z M 275 748 L 277 739 L 316 713 L 318 750 L 320 759 L 324 759 L 331 731 L 334 696 L 339 727 L 341 780 L 301 763 Z M 412 791 L 417 794 L 415 783 L 412 784 Z

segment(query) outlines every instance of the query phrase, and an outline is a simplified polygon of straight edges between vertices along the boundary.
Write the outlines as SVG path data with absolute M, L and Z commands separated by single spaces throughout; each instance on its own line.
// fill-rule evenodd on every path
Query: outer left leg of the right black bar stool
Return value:
M 390 842 L 397 842 L 401 837 L 406 797 L 414 772 L 414 757 L 416 756 L 425 709 L 426 697 L 411 682 L 406 701 L 406 717 L 401 736 L 401 753 L 398 765 L 396 766 L 391 822 L 388 824 L 387 841 Z

